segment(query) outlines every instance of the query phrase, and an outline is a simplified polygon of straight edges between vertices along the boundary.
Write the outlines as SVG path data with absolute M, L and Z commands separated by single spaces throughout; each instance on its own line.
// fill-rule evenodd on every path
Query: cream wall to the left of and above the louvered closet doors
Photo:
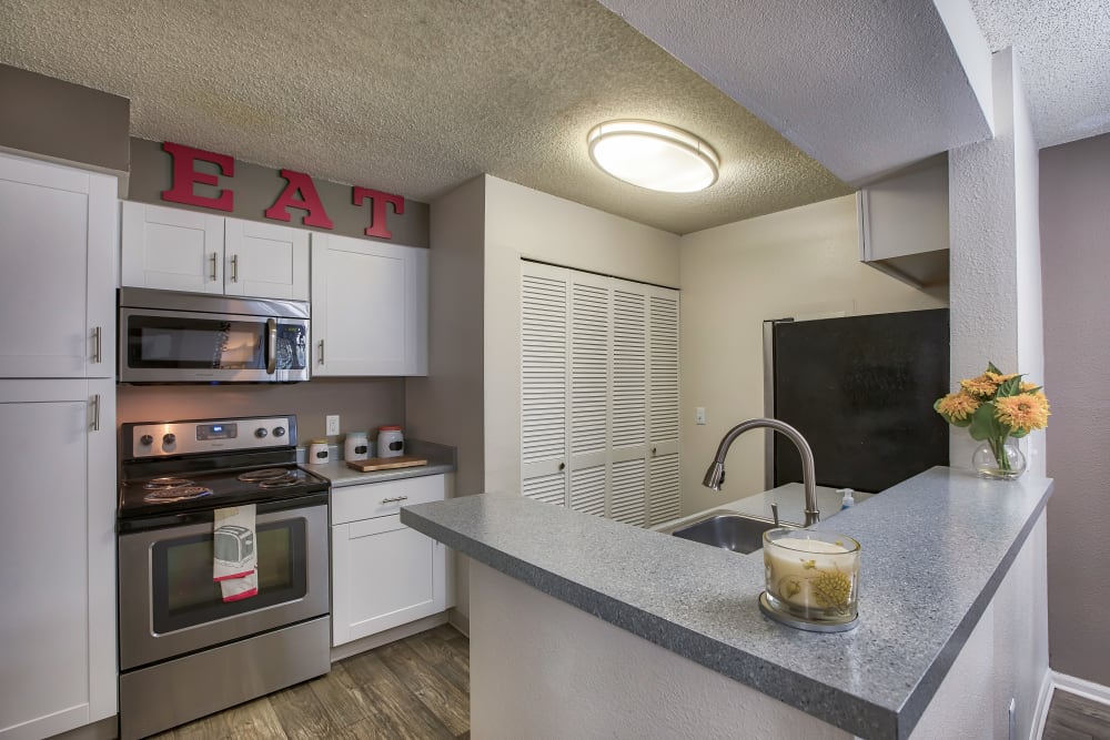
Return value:
M 678 236 L 485 176 L 485 486 L 521 487 L 521 259 L 678 286 Z

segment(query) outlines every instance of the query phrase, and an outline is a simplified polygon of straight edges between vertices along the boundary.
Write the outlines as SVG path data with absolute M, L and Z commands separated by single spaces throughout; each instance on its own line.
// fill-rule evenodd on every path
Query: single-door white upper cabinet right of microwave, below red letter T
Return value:
M 313 375 L 427 374 L 427 250 L 312 235 Z

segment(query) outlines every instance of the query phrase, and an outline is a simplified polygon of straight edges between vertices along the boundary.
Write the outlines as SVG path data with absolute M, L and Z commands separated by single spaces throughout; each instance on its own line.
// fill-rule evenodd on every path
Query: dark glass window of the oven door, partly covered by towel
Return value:
M 304 519 L 256 527 L 259 595 L 225 602 L 212 580 L 211 534 L 163 539 L 151 547 L 154 632 L 164 635 L 216 619 L 304 598 L 307 592 Z

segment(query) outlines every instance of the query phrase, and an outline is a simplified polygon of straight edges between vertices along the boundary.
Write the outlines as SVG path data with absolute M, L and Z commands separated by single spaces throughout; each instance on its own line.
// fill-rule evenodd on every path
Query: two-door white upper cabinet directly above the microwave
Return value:
M 123 285 L 309 300 L 309 232 L 125 201 Z

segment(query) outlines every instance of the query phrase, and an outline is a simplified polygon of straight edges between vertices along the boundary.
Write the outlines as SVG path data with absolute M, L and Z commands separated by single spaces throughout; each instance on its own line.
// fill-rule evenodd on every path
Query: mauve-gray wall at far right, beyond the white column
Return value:
M 1110 686 L 1110 134 L 1040 154 L 1053 670 Z

